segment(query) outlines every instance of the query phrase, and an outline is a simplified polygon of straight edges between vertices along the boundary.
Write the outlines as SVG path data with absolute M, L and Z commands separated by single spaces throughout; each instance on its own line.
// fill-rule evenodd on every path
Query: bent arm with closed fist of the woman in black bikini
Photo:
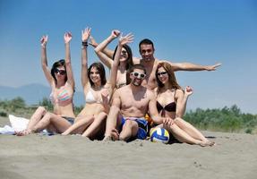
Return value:
M 185 90 L 176 90 L 176 117 L 183 117 L 186 102 L 190 95 L 193 94 L 193 89 L 189 86 L 185 87 Z

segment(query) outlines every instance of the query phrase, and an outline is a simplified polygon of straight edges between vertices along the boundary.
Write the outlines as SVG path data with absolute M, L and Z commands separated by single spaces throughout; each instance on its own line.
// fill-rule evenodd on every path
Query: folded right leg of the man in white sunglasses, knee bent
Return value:
M 128 141 L 131 137 L 136 136 L 138 132 L 138 124 L 132 120 L 126 120 L 123 126 L 123 130 L 120 133 L 120 141 Z

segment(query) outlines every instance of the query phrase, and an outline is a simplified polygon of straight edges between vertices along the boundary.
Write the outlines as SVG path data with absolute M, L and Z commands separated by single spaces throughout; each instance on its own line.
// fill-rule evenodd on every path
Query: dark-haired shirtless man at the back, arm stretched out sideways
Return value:
M 139 52 L 141 58 L 133 57 L 133 64 L 142 64 L 146 69 L 146 78 L 142 82 L 142 86 L 148 87 L 150 90 L 153 90 L 157 87 L 155 72 L 158 66 L 158 63 L 163 60 L 158 60 L 154 57 L 154 46 L 150 39 L 145 38 L 141 40 L 139 44 Z M 167 61 L 166 61 L 167 62 Z M 218 66 L 221 64 L 214 65 L 198 65 L 190 63 L 171 63 L 173 71 L 215 71 Z

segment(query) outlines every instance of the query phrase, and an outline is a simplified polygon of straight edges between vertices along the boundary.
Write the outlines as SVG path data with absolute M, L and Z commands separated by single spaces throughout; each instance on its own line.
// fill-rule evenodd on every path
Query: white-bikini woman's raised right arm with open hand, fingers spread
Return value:
M 131 33 L 127 34 L 124 37 L 121 36 L 119 38 L 115 59 L 113 61 L 112 68 L 111 68 L 110 84 L 111 84 L 112 90 L 114 90 L 116 87 L 116 77 L 117 77 L 119 59 L 121 57 L 122 48 L 125 44 L 129 44 L 132 42 L 133 42 L 133 34 L 131 34 Z

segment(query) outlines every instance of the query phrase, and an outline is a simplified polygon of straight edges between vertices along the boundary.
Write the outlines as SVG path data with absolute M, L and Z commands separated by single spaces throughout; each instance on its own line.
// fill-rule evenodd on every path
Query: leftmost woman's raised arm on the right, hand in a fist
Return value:
M 66 72 L 67 72 L 67 82 L 73 87 L 75 87 L 75 82 L 73 78 L 73 69 L 71 64 L 71 50 L 70 50 L 70 41 L 72 40 L 73 36 L 71 32 L 67 32 L 64 34 L 64 45 L 65 45 L 65 65 L 66 65 Z

